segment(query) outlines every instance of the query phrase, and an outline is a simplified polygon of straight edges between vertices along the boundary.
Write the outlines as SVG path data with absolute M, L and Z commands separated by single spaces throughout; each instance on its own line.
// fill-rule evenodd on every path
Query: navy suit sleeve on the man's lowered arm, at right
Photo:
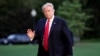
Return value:
M 63 21 L 63 26 L 62 26 L 62 30 L 63 30 L 63 40 L 64 40 L 64 44 L 65 44 L 65 52 L 66 52 L 66 56 L 72 56 L 73 55 L 73 50 L 72 50 L 72 46 L 73 46 L 73 41 L 72 41 L 72 37 L 70 34 L 70 30 L 68 29 L 67 23 L 65 21 Z

